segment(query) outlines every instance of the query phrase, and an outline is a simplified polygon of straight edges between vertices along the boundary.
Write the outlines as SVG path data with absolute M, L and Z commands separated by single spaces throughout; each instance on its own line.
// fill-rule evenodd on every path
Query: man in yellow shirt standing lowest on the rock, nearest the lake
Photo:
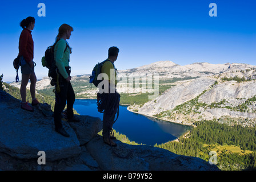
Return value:
M 119 110 L 118 108 L 120 101 L 120 95 L 115 89 L 117 86 L 117 69 L 115 69 L 114 62 L 117 60 L 118 53 L 119 49 L 117 47 L 109 48 L 109 57 L 105 60 L 105 63 L 102 65 L 101 69 L 102 73 L 107 75 L 108 82 L 106 82 L 106 84 L 109 84 L 103 86 L 108 86 L 108 89 L 105 88 L 103 93 L 100 91 L 101 93 L 97 94 L 98 109 L 100 112 L 104 112 L 102 126 L 103 140 L 105 143 L 113 147 L 117 146 L 117 144 L 111 140 L 115 139 L 115 137 L 113 135 L 110 136 L 110 133 L 112 133 L 113 130 L 112 127 L 115 122 L 115 114 Z M 101 90 L 102 88 L 99 89 Z

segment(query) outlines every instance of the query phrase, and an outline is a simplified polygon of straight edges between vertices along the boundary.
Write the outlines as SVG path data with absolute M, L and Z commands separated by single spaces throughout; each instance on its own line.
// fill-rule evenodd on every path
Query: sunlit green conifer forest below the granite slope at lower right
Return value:
M 215 121 L 203 121 L 195 125 L 189 137 L 181 137 L 179 142 L 155 144 L 155 147 L 209 161 L 209 152 L 213 150 L 214 144 L 235 145 L 252 152 L 242 155 L 224 150 L 218 153 L 217 166 L 223 170 L 256 169 L 256 127 L 229 126 Z

